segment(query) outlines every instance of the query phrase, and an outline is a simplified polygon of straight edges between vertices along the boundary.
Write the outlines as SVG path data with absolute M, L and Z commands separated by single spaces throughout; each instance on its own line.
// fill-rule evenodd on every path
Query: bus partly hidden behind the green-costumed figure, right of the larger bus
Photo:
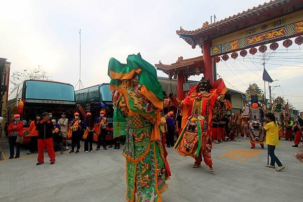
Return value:
M 81 105 L 86 112 L 90 112 L 93 120 L 99 116 L 100 110 L 104 110 L 108 118 L 107 140 L 113 137 L 113 101 L 112 91 L 108 83 L 98 84 L 75 91 L 77 104 Z M 94 134 L 94 141 L 97 136 Z

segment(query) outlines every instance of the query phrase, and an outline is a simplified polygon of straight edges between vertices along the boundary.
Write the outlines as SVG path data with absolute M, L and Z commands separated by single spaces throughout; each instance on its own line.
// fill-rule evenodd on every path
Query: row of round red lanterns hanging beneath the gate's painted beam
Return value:
M 294 39 L 294 43 L 297 44 L 297 45 L 301 45 L 303 44 L 303 36 L 298 36 Z M 282 45 L 285 47 L 285 48 L 288 48 L 289 46 L 292 45 L 292 40 L 291 39 L 286 39 L 283 41 Z M 270 44 L 269 48 L 271 50 L 276 50 L 277 48 L 279 47 L 279 44 L 277 42 L 273 42 Z M 264 53 L 265 51 L 267 50 L 267 46 L 266 45 L 261 45 L 259 46 L 259 52 L 262 52 Z M 255 55 L 256 53 L 258 52 L 258 49 L 255 48 L 255 47 L 252 47 L 249 49 L 249 53 L 252 54 L 252 55 Z M 247 50 L 241 50 L 240 51 L 240 55 L 242 57 L 245 57 L 247 55 Z M 236 59 L 238 57 L 238 53 L 237 52 L 232 52 L 231 55 L 230 55 L 233 59 Z M 224 54 L 222 55 L 222 59 L 224 61 L 228 60 L 229 59 L 229 56 L 227 54 Z M 221 57 L 219 56 L 215 56 L 214 57 L 214 61 L 215 62 L 219 62 L 221 61 Z

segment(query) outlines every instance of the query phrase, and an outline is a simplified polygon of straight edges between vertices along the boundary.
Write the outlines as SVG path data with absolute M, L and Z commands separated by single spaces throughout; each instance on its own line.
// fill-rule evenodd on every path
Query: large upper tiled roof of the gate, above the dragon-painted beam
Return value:
M 196 30 L 188 31 L 180 27 L 176 33 L 187 43 L 195 46 L 201 38 L 223 36 L 302 9 L 302 0 L 274 0 L 212 24 L 206 21 Z

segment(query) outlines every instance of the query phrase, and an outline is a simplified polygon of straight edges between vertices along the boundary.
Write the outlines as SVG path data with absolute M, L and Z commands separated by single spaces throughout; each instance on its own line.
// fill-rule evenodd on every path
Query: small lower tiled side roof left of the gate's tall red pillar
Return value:
M 189 59 L 183 59 L 183 57 L 180 56 L 178 57 L 178 60 L 175 63 L 162 64 L 161 61 L 159 61 L 159 64 L 155 64 L 155 66 L 157 70 L 169 71 L 173 69 L 184 68 L 186 66 L 197 64 L 197 63 L 203 63 L 203 56 L 193 57 Z

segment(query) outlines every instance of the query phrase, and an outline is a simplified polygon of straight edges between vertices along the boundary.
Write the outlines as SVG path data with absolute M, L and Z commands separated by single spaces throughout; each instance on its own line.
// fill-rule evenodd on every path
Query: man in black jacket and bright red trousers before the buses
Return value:
M 36 129 L 38 130 L 38 163 L 36 164 L 37 166 L 44 163 L 45 147 L 51 164 L 55 164 L 56 160 L 53 144 L 54 125 L 48 118 L 49 117 L 47 112 L 42 113 L 42 120 L 36 125 Z

